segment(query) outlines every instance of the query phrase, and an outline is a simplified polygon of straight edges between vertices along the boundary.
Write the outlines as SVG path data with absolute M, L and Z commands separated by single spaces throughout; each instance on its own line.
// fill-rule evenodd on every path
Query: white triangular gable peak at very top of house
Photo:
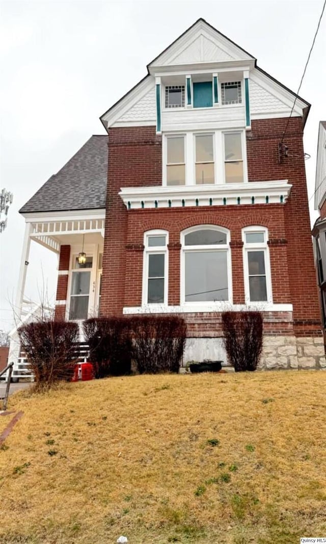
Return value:
M 241 60 L 255 59 L 206 21 L 199 19 L 148 65 L 148 71 L 154 73 L 157 67 Z

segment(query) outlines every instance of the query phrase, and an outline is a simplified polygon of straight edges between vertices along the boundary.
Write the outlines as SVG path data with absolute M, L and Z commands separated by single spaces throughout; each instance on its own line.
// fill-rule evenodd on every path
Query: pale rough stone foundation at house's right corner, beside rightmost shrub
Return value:
M 323 337 L 265 336 L 259 368 L 326 369 Z

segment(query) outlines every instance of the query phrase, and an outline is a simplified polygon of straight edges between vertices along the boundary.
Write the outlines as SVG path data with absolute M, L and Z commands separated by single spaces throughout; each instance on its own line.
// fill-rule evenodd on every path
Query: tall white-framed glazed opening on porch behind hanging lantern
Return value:
M 92 257 L 86 257 L 86 262 L 79 264 L 78 257 L 73 256 L 69 319 L 87 319 L 92 265 Z

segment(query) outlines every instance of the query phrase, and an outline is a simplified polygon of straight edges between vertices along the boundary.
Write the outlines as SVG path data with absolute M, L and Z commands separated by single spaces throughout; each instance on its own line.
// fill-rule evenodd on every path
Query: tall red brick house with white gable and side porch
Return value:
M 203 19 L 147 71 L 102 115 L 108 135 L 22 207 L 22 263 L 30 240 L 59 255 L 58 318 L 181 314 L 184 362 L 225 360 L 221 312 L 252 308 L 264 314 L 263 367 L 323 366 L 310 104 Z M 25 276 L 22 264 L 18 308 Z

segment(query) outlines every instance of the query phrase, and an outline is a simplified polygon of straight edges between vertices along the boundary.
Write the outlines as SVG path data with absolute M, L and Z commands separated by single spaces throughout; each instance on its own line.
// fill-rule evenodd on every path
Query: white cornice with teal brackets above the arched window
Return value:
M 287 180 L 183 187 L 127 187 L 122 188 L 119 195 L 127 209 L 131 210 L 252 205 L 285 203 L 291 187 Z

